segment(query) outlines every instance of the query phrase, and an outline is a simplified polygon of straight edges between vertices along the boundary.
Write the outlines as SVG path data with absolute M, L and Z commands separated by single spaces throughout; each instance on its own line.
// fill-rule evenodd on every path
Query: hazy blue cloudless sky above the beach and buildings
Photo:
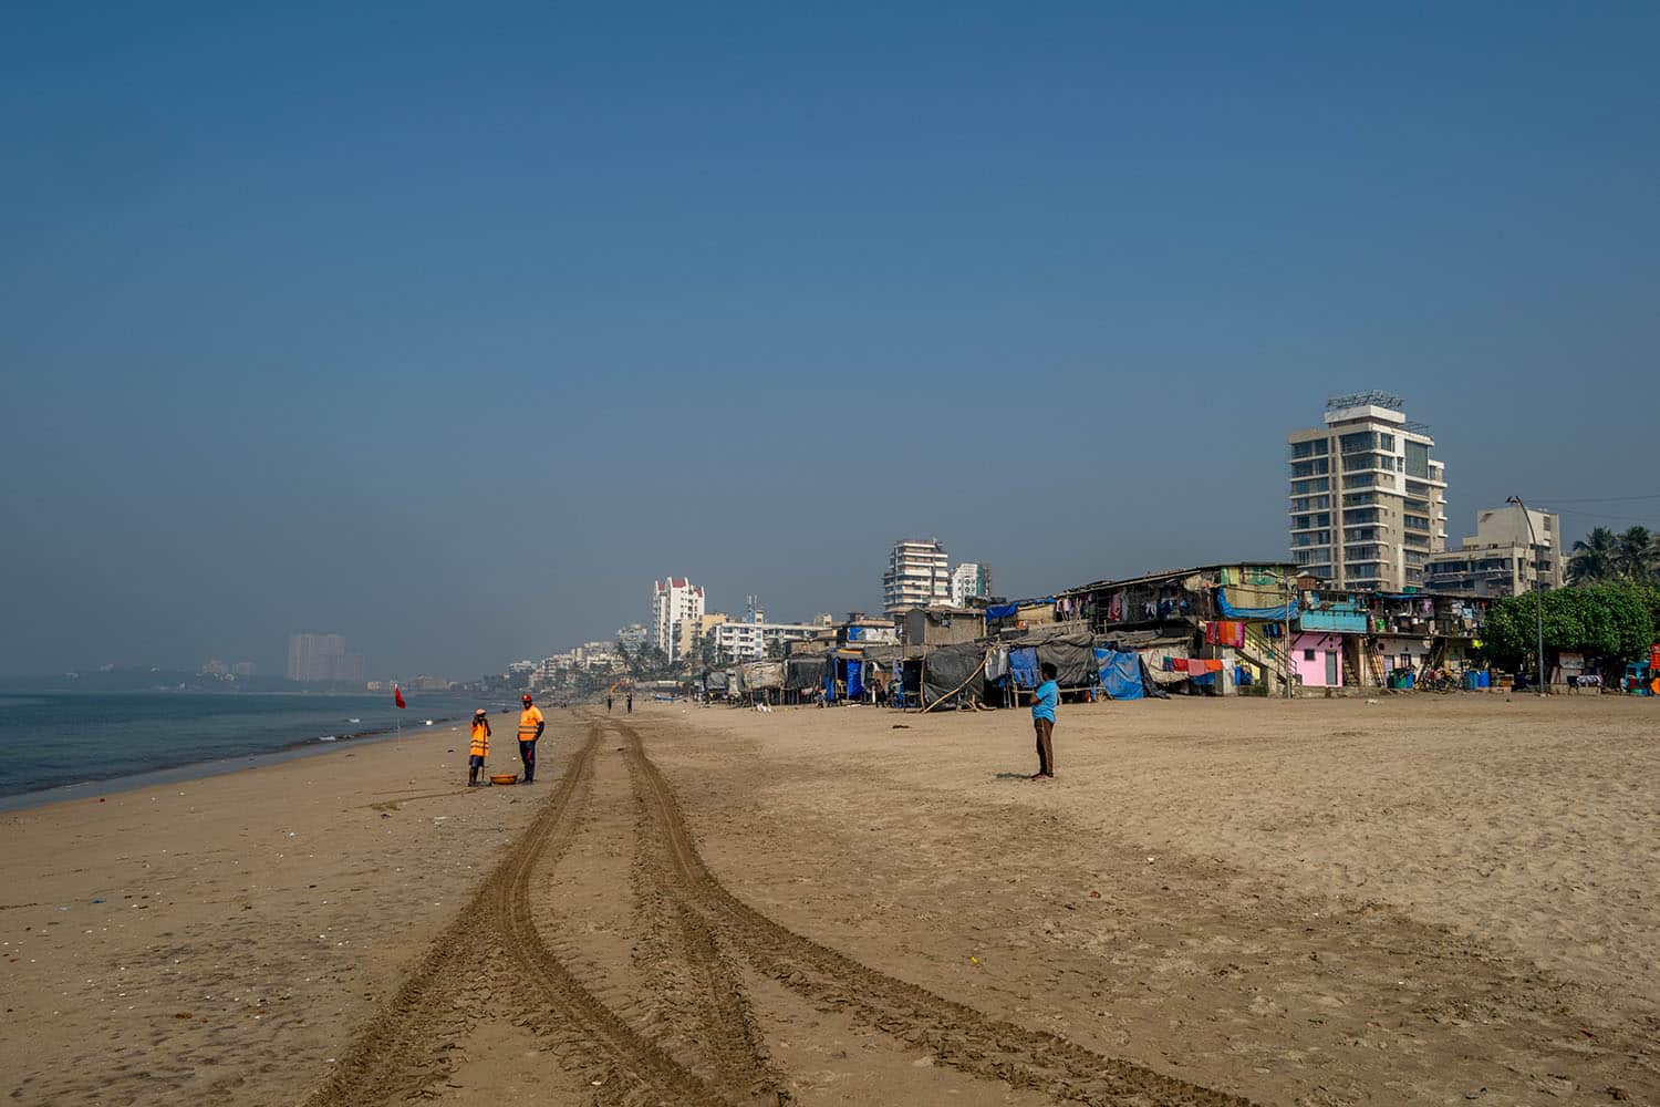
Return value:
M 1660 523 L 1660 8 L 891 7 L 10 7 L 0 672 L 1282 559 L 1361 388 Z

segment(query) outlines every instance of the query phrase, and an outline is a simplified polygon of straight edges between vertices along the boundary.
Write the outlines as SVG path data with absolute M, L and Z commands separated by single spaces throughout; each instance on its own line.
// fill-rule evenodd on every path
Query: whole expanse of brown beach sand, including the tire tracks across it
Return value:
M 1655 710 L 1066 705 L 1031 782 L 1023 712 L 619 705 L 535 790 L 423 734 L 20 812 L 0 1087 L 1660 1104 Z

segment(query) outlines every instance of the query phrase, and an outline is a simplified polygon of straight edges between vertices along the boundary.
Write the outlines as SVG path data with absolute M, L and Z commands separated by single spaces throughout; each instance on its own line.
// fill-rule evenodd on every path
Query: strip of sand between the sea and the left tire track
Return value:
M 551 780 L 581 724 L 549 722 Z M 193 782 L 106 802 L 108 782 L 53 790 L 0 815 L 3 1090 L 295 1102 L 540 810 L 544 790 L 466 788 L 465 729 L 227 758 L 211 777 L 198 763 L 171 770 Z M 496 737 L 491 765 L 516 762 Z

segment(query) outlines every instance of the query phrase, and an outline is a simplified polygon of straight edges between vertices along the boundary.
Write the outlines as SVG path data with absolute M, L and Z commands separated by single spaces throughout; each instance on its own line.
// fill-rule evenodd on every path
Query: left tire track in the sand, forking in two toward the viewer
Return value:
M 505 992 L 531 992 L 548 1004 L 556 1026 L 556 1054 L 573 1070 L 598 1070 L 596 1099 L 626 1102 L 709 1104 L 727 1099 L 696 1074 L 634 1032 L 576 979 L 546 944 L 531 919 L 530 883 L 538 865 L 556 865 L 581 827 L 593 782 L 601 729 L 591 725 L 581 750 L 559 778 L 548 805 L 468 905 L 433 941 L 422 961 L 355 1036 L 350 1049 L 305 1097 L 305 1107 L 369 1107 L 430 1094 L 450 1069 L 448 1052 L 485 1011 L 500 1011 Z M 516 963 L 516 964 L 515 964 Z M 478 984 L 491 974 L 508 988 Z M 460 997 L 458 997 L 460 996 Z M 611 1077 L 621 1077 L 626 1089 Z

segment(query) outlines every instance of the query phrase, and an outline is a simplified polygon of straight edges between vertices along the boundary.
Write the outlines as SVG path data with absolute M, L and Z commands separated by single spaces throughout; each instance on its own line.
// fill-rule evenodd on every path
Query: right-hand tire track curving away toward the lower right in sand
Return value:
M 709 871 L 674 790 L 646 755 L 639 732 L 618 724 L 632 778 L 666 838 L 672 876 L 696 906 L 757 968 L 813 1001 L 848 1009 L 963 1072 L 1036 1089 L 1062 1102 L 1099 1107 L 1257 1107 L 1252 1100 L 1189 1084 L 1145 1066 L 1104 1057 L 1046 1031 L 994 1019 L 974 1007 L 880 973 L 775 923 L 734 896 Z

